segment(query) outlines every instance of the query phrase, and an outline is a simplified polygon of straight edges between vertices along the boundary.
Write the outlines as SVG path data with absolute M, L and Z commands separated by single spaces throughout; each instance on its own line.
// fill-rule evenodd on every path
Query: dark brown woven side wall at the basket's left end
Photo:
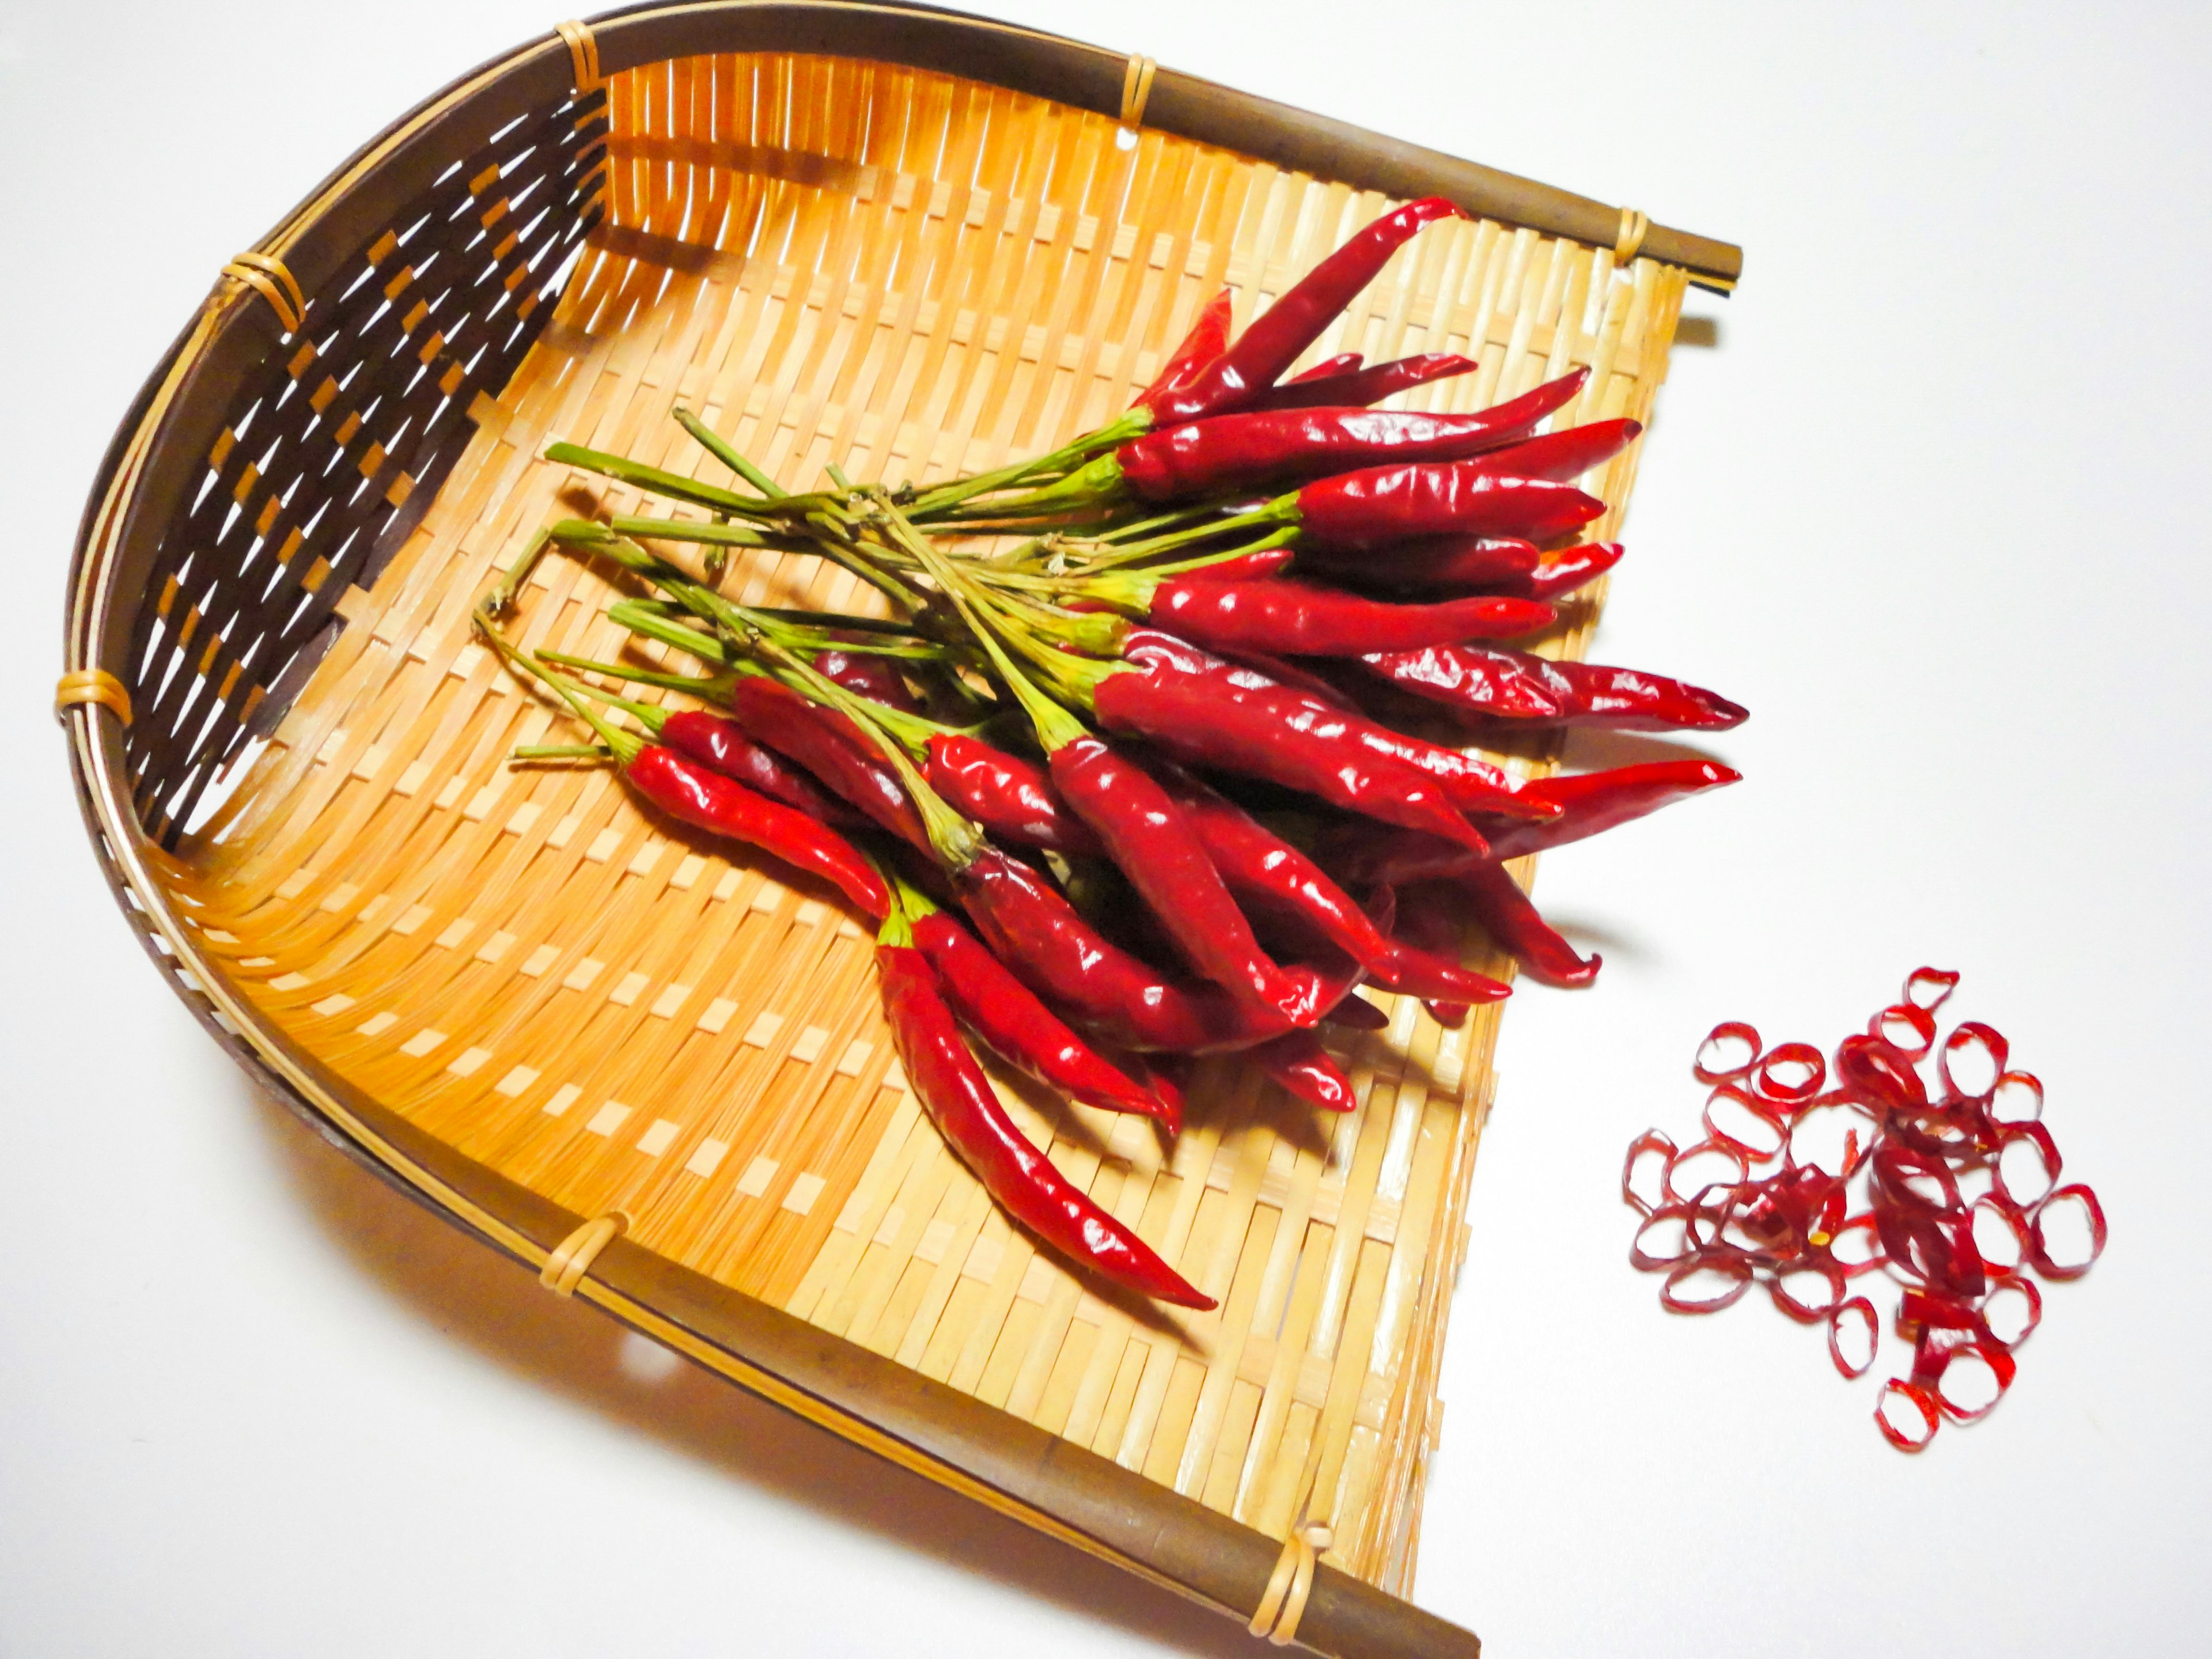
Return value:
M 604 210 L 606 93 L 451 161 L 239 389 L 153 568 L 126 684 L 139 823 L 173 847 L 438 495 Z

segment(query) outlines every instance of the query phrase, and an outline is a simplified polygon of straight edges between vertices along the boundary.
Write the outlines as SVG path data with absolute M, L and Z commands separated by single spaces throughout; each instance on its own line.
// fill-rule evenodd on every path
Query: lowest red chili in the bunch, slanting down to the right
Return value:
M 960 1040 L 927 956 L 911 945 L 878 942 L 876 973 L 907 1082 L 938 1133 L 1006 1214 L 1117 1285 L 1179 1307 L 1217 1305 L 1022 1137 Z

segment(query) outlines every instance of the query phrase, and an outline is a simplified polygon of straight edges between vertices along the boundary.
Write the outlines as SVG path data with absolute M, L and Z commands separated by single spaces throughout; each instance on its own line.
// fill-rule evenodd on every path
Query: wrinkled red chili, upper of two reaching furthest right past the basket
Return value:
M 1486 719 L 1608 726 L 1624 732 L 1725 732 L 1750 719 L 1741 703 L 1681 679 L 1604 664 L 1551 661 L 1502 646 L 1385 648 L 1360 661 L 1400 690 L 1458 714 Z M 1544 712 L 1546 708 L 1557 712 Z

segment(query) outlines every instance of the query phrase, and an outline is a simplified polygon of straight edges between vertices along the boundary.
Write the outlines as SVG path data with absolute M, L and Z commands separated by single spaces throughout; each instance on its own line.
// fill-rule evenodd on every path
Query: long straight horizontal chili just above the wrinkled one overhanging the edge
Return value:
M 1181 575 L 1152 591 L 1150 619 L 1214 650 L 1279 650 L 1290 657 L 1360 657 L 1458 639 L 1513 639 L 1557 613 L 1533 599 L 1380 604 L 1276 577 L 1221 582 Z

